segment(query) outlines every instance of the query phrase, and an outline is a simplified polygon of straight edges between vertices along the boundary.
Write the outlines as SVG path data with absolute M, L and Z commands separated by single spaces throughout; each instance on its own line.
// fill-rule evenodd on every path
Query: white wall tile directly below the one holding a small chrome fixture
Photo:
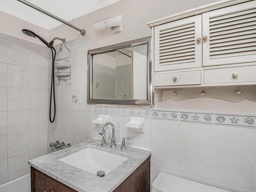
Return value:
M 71 132 L 81 132 L 81 111 L 68 111 L 68 130 Z

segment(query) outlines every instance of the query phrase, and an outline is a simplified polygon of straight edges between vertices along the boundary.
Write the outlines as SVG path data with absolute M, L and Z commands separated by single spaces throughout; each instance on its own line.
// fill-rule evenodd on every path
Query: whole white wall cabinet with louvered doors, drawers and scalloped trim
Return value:
M 148 25 L 158 101 L 256 101 L 256 0 L 219 1 Z

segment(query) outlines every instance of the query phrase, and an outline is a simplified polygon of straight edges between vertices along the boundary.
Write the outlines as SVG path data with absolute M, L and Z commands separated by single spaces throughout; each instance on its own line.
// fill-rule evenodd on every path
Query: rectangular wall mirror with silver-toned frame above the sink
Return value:
M 153 106 L 151 37 L 88 50 L 87 102 Z

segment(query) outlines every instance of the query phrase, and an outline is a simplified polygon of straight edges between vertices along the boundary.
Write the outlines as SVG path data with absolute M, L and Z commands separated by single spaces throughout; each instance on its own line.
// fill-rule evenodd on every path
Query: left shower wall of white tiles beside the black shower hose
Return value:
M 47 152 L 48 48 L 0 34 L 0 184 Z

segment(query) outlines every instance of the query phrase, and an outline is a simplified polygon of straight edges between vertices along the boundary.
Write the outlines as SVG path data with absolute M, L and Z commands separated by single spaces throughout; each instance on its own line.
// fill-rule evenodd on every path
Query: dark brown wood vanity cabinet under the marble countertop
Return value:
M 31 192 L 77 191 L 31 167 Z M 130 174 L 114 192 L 150 192 L 150 157 Z

